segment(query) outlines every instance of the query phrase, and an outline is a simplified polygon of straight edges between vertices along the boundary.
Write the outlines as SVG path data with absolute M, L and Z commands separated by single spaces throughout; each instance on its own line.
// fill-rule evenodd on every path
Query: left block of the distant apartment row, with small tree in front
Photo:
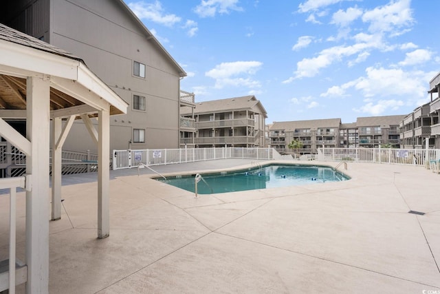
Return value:
M 270 145 L 278 152 L 289 153 L 292 140 L 303 143 L 300 154 L 315 154 L 319 147 L 339 147 L 340 118 L 274 122 L 270 127 Z

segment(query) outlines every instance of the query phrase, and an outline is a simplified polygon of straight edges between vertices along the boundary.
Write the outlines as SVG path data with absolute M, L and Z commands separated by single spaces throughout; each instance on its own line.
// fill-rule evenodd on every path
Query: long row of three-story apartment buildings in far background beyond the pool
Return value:
M 277 151 L 289 153 L 293 150 L 287 145 L 299 140 L 303 148 L 295 152 L 300 154 L 315 154 L 320 147 L 399 147 L 399 123 L 404 117 L 360 117 L 356 123 L 341 123 L 340 118 L 275 122 L 270 127 L 270 143 Z

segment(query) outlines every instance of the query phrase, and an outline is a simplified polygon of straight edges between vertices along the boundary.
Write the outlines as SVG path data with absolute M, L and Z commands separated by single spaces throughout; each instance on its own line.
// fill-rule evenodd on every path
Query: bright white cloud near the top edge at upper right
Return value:
M 412 25 L 410 0 L 391 1 L 385 6 L 379 6 L 366 11 L 362 21 L 370 23 L 370 32 L 395 32 L 399 28 Z

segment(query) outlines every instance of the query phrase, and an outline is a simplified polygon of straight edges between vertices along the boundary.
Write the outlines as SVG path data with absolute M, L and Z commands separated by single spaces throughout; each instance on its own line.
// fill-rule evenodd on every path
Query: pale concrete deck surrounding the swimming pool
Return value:
M 166 175 L 251 162 L 153 168 Z M 63 176 L 62 218 L 50 222 L 50 293 L 440 291 L 440 175 L 406 165 L 340 169 L 351 180 L 197 199 L 151 180 L 147 169 L 112 171 L 111 230 L 102 240 L 96 176 Z M 17 196 L 23 260 L 24 193 Z M 0 195 L 0 259 L 8 249 L 5 209 L 8 196 Z

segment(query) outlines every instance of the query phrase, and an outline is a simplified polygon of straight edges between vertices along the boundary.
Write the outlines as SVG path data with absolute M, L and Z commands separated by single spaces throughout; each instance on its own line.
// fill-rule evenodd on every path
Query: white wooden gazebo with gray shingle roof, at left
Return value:
M 14 293 L 23 282 L 27 293 L 48 292 L 49 216 L 61 218 L 61 149 L 78 118 L 98 145 L 98 238 L 109 236 L 109 117 L 125 114 L 126 108 L 82 59 L 0 24 L 0 136 L 26 155 L 24 176 L 0 179 L 0 189 L 10 189 L 9 258 L 3 272 L 0 262 L 0 292 Z M 25 136 L 7 123 L 10 119 L 25 121 Z M 47 202 L 51 141 L 52 213 Z M 15 252 L 17 187 L 26 194 L 23 262 L 16 262 Z

